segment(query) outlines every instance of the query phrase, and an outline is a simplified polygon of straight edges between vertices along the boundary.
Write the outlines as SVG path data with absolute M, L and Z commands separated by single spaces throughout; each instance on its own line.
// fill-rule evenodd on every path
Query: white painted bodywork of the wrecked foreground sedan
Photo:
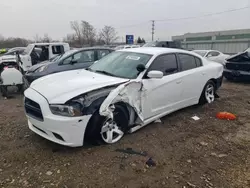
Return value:
M 152 58 L 146 65 L 151 65 L 156 57 L 168 53 L 186 53 L 201 58 L 194 52 L 168 48 L 131 48 L 122 51 L 151 54 Z M 62 117 L 53 115 L 49 104 L 64 104 L 66 101 L 86 92 L 101 89 L 105 86 L 120 84 L 110 92 L 102 103 L 99 113 L 107 118 L 113 118 L 114 103 L 125 102 L 138 115 L 138 126 L 130 129 L 134 132 L 163 116 L 197 104 L 202 90 L 210 79 L 222 76 L 223 66 L 201 58 L 203 66 L 195 69 L 163 76 L 162 78 L 144 79 L 143 71 L 136 79 L 128 80 L 106 76 L 86 70 L 67 71 L 38 79 L 25 91 L 25 96 L 40 104 L 44 122 L 28 117 L 31 130 L 51 141 L 67 146 L 80 146 L 87 123 L 91 115 L 83 117 Z M 49 103 L 49 104 L 48 104 Z M 78 123 L 78 120 L 82 120 Z M 47 134 L 32 127 L 36 125 Z M 65 142 L 56 139 L 55 131 L 65 138 Z

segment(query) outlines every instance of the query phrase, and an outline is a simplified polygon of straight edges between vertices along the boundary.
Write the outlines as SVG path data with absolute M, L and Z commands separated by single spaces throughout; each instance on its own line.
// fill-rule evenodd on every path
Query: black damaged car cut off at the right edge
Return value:
M 226 60 L 224 76 L 227 80 L 250 81 L 250 48 Z

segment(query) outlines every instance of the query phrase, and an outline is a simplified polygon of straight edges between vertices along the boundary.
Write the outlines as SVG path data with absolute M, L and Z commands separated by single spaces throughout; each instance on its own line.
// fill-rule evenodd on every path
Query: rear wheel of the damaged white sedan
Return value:
M 212 103 L 215 98 L 215 83 L 209 80 L 201 93 L 199 104 Z

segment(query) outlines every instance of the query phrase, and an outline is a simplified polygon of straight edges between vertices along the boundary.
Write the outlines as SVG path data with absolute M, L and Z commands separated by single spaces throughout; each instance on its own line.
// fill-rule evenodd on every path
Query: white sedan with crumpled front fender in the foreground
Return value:
M 25 91 L 29 128 L 58 144 L 113 144 L 181 108 L 211 103 L 223 66 L 168 48 L 120 50 L 88 70 L 56 73 Z

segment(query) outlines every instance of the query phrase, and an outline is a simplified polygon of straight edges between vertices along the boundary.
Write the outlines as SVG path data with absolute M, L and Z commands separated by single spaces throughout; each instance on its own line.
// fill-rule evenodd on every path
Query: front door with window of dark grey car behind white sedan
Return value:
M 95 50 L 77 52 L 59 63 L 57 72 L 87 68 L 95 59 Z

